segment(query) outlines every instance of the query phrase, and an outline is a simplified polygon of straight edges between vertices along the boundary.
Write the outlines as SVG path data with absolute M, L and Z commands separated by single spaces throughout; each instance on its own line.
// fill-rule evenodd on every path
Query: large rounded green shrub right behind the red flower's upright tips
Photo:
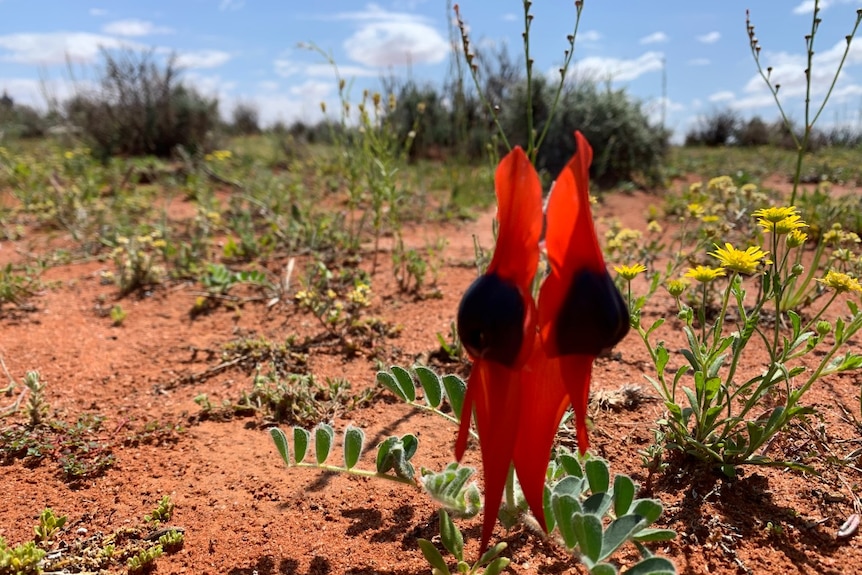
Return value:
M 534 125 L 541 132 L 548 118 L 554 88 L 533 79 Z M 511 144 L 526 142 L 526 86 L 520 84 L 503 105 L 502 124 Z M 556 115 L 539 150 L 536 166 L 556 174 L 575 151 L 572 133 L 580 130 L 593 147 L 591 177 L 601 186 L 641 181 L 656 185 L 668 151 L 669 134 L 650 124 L 639 101 L 624 89 L 600 87 L 590 79 L 567 85 Z

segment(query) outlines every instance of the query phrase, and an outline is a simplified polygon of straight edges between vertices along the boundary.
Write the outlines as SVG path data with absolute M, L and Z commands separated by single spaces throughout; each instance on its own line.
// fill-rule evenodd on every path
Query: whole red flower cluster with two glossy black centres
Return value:
M 587 400 L 593 360 L 628 331 L 628 310 L 599 248 L 589 203 L 592 148 L 575 133 L 576 152 L 548 201 L 545 245 L 550 273 L 532 297 L 542 230 L 538 174 L 521 148 L 497 168 L 499 231 L 488 270 L 467 289 L 458 308 L 458 333 L 473 359 L 461 427 L 460 460 L 470 414 L 485 477 L 482 550 L 500 509 L 510 465 L 544 527 L 543 492 L 554 436 L 571 404 L 578 448 L 589 445 Z

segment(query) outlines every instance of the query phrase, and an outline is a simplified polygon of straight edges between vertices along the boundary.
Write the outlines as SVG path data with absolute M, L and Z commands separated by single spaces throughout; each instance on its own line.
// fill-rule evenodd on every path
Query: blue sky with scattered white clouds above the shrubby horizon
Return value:
M 804 35 L 813 0 L 586 0 L 575 50 L 589 73 L 644 102 L 657 120 L 684 134 L 702 114 L 732 107 L 771 120 L 777 112 L 748 46 L 745 10 L 773 67 L 790 113 L 802 118 Z M 462 0 L 472 41 L 508 43 L 520 54 L 523 4 Z M 852 30 L 858 5 L 821 0 L 812 100 L 819 103 Z M 555 73 L 574 25 L 571 1 L 535 0 L 532 55 Z M 217 95 L 228 115 L 252 103 L 264 122 L 316 121 L 320 102 L 335 109 L 337 86 L 326 62 L 298 48 L 314 42 L 353 79 L 353 97 L 377 89 L 382 75 L 441 82 L 449 69 L 445 0 L 0 0 L 0 91 L 44 107 L 44 93 L 64 98 L 96 78 L 99 47 L 151 48 L 179 56 L 184 77 Z M 72 63 L 70 73 L 67 62 Z M 662 105 L 662 70 L 667 100 Z M 823 125 L 860 125 L 862 38 L 854 42 Z

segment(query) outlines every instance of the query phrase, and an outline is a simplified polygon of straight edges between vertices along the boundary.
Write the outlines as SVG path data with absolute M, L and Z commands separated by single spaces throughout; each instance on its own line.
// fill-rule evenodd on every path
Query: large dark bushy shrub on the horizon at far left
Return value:
M 180 80 L 174 58 L 152 52 L 102 51 L 98 88 L 78 92 L 66 113 L 90 140 L 94 154 L 170 156 L 182 146 L 206 148 L 218 126 L 218 100 Z

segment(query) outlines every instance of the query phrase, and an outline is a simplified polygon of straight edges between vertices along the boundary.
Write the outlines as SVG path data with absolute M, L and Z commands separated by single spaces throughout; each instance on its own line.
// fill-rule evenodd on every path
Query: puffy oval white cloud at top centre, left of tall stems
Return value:
M 405 12 L 390 12 L 369 4 L 360 12 L 342 12 L 331 18 L 350 20 L 359 29 L 344 41 L 347 56 L 369 67 L 436 64 L 449 53 L 449 42 L 427 19 Z

